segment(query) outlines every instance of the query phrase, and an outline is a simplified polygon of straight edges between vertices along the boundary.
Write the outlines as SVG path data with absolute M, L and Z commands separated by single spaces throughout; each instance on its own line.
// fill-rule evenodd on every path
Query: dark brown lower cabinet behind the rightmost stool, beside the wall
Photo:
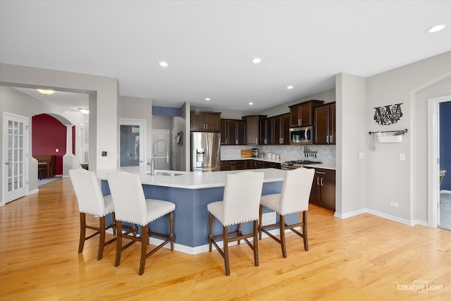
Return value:
M 311 204 L 335 211 L 335 171 L 315 168 L 310 202 Z

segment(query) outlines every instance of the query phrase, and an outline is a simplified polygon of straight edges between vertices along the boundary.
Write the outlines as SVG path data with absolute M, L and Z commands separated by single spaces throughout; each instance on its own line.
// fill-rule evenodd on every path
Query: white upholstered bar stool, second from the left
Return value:
M 174 250 L 173 211 L 175 210 L 175 204 L 160 199 L 146 199 L 144 197 L 144 191 L 142 190 L 140 176 L 138 175 L 119 171 L 116 173 L 109 173 L 107 174 L 107 177 L 116 211 L 116 229 L 118 231 L 114 266 L 121 264 L 121 253 L 123 250 L 127 249 L 135 242 L 141 242 L 139 274 L 142 275 L 144 273 L 147 257 L 154 254 L 168 242 L 171 243 L 171 251 Z M 150 223 L 162 216 L 168 216 L 170 233 L 163 234 L 149 231 Z M 135 235 L 130 235 L 129 232 L 123 233 L 123 221 L 140 225 L 141 235 L 136 237 Z M 163 238 L 164 241 L 147 252 L 149 236 Z M 131 241 L 122 246 L 123 238 Z

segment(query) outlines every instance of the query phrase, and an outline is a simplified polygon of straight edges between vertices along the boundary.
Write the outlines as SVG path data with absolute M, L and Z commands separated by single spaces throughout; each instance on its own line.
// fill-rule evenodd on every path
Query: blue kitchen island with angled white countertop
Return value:
M 240 171 L 214 171 L 207 173 L 187 171 L 155 171 L 151 176 L 149 166 L 121 167 L 117 169 L 97 170 L 97 178 L 101 180 L 101 190 L 109 195 L 110 190 L 106 175 L 115 171 L 127 171 L 140 176 L 146 198 L 163 199 L 175 203 L 174 235 L 175 250 L 187 254 L 208 251 L 209 212 L 206 205 L 223 199 L 226 176 Z M 261 195 L 280 193 L 285 171 L 275 168 L 252 169 L 264 173 L 264 185 Z M 246 202 L 242 199 L 242 202 Z M 264 210 L 264 213 L 267 212 Z M 299 221 L 299 214 L 287 216 L 288 223 Z M 111 216 L 107 216 L 107 221 Z M 159 219 L 151 223 L 152 231 L 168 233 L 167 219 Z M 230 227 L 233 231 L 233 227 Z M 252 222 L 242 224 L 243 233 L 252 232 Z M 222 233 L 221 223 L 215 220 L 214 233 Z M 152 238 L 154 242 L 159 241 Z

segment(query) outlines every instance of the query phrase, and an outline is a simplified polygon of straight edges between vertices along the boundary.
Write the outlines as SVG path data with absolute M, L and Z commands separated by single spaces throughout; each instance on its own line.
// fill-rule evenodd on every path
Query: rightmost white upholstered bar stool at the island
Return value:
M 269 237 L 280 243 L 282 247 L 282 255 L 287 257 L 287 248 L 285 245 L 285 229 L 290 229 L 300 237 L 304 238 L 304 249 L 309 250 L 309 241 L 307 237 L 307 211 L 309 210 L 309 197 L 311 191 L 311 185 L 315 170 L 313 168 L 297 168 L 292 171 L 286 171 L 285 178 L 283 180 L 282 191 L 278 194 L 264 195 L 260 200 L 260 213 L 259 220 L 263 214 L 263 207 L 278 212 L 279 222 L 271 225 L 261 226 L 259 225 L 259 237 L 261 239 L 261 232 L 263 231 Z M 302 212 L 302 221 L 292 225 L 285 223 L 285 215 L 296 212 Z M 280 231 L 280 239 L 272 235 L 267 228 L 274 228 L 278 226 Z M 302 228 L 302 233 L 295 230 L 296 227 Z

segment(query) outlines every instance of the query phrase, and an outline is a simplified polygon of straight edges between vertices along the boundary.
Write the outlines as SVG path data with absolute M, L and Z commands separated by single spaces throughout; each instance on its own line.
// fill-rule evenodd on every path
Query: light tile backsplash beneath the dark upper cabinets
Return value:
M 316 152 L 316 158 L 304 156 L 304 145 L 259 145 L 259 156 L 271 152 L 280 155 L 280 161 L 311 160 L 324 164 L 335 164 L 335 145 L 307 145 L 311 152 Z M 240 158 L 241 149 L 252 149 L 248 145 L 221 146 L 221 159 Z

